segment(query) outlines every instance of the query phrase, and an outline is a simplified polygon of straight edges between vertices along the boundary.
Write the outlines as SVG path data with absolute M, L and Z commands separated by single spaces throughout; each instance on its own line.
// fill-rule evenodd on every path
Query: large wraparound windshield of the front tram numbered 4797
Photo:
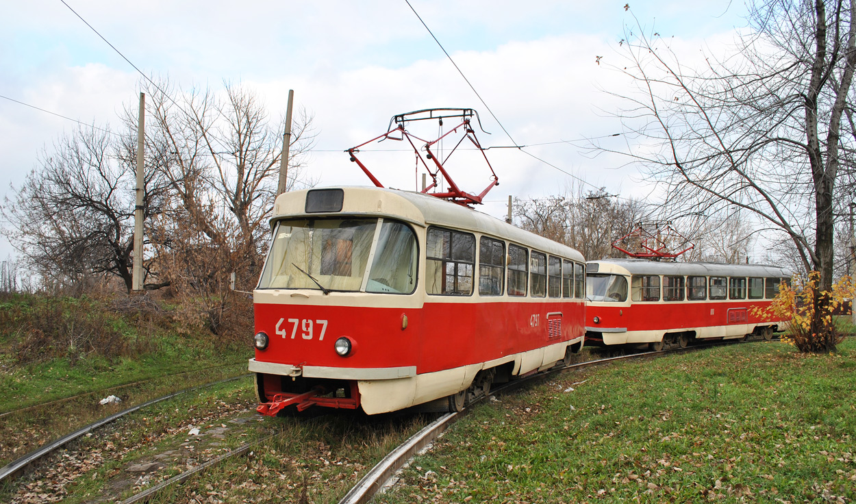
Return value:
M 283 220 L 276 223 L 259 288 L 410 294 L 417 258 L 416 235 L 403 222 Z

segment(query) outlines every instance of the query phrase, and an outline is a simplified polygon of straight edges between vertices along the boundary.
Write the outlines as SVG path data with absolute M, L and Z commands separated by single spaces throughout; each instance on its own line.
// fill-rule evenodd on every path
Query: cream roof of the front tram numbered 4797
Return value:
M 342 189 L 344 201 L 341 212 L 306 213 L 306 194 L 319 189 Z M 282 193 L 276 198 L 271 222 L 283 216 L 318 217 L 337 213 L 365 216 L 394 216 L 422 227 L 430 225 L 461 229 L 502 238 L 576 261 L 585 262 L 583 255 L 553 240 L 538 236 L 494 216 L 467 206 L 457 205 L 430 194 L 388 189 L 383 187 L 318 187 Z

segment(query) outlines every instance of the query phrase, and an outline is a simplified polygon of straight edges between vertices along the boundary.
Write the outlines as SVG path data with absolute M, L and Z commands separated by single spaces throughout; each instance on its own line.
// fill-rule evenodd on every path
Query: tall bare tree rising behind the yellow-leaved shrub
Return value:
M 803 268 L 833 279 L 835 181 L 852 165 L 856 68 L 854 0 L 758 0 L 739 54 L 693 71 L 659 39 L 629 33 L 625 70 L 639 94 L 622 114 L 644 145 L 632 155 L 669 187 L 675 215 L 715 215 L 734 205 L 794 244 Z M 653 146 L 652 146 L 653 145 Z M 825 294 L 817 306 L 829 304 Z M 835 349 L 823 310 L 817 349 Z

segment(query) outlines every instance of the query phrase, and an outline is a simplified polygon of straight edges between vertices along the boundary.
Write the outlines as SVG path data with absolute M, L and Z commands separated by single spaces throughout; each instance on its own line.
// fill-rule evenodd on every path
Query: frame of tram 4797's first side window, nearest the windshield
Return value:
M 432 248 L 436 248 L 436 246 L 432 246 L 431 244 L 432 235 L 436 236 L 437 234 L 443 236 L 439 247 L 443 257 L 439 258 L 430 255 Z M 449 237 L 449 240 L 445 239 L 446 236 Z M 467 246 L 466 242 L 470 240 L 472 240 L 472 243 L 470 246 Z M 464 242 L 463 247 L 459 245 L 461 242 Z M 473 283 L 475 282 L 475 258 L 475 234 L 448 228 L 428 228 L 428 232 L 425 234 L 425 294 L 432 296 L 472 296 L 474 290 Z M 440 266 L 439 275 L 441 282 L 439 286 L 436 284 L 436 274 L 428 271 L 433 267 L 431 266 L 432 261 L 439 263 Z M 449 267 L 451 267 L 451 271 L 449 271 Z M 461 270 L 463 270 L 462 273 Z M 452 280 L 451 289 L 449 289 L 450 278 Z M 467 278 L 469 279 L 468 291 L 461 288 L 461 283 L 459 282 L 459 279 L 466 280 Z M 431 279 L 435 281 L 431 282 Z M 438 292 L 433 290 L 437 287 L 440 289 Z

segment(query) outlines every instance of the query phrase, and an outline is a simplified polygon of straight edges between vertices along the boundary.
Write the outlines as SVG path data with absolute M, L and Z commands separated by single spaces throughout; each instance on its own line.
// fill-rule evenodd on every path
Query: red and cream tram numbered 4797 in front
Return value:
M 253 291 L 260 413 L 459 410 L 583 345 L 585 260 L 568 246 L 376 187 L 283 193 L 273 214 Z

